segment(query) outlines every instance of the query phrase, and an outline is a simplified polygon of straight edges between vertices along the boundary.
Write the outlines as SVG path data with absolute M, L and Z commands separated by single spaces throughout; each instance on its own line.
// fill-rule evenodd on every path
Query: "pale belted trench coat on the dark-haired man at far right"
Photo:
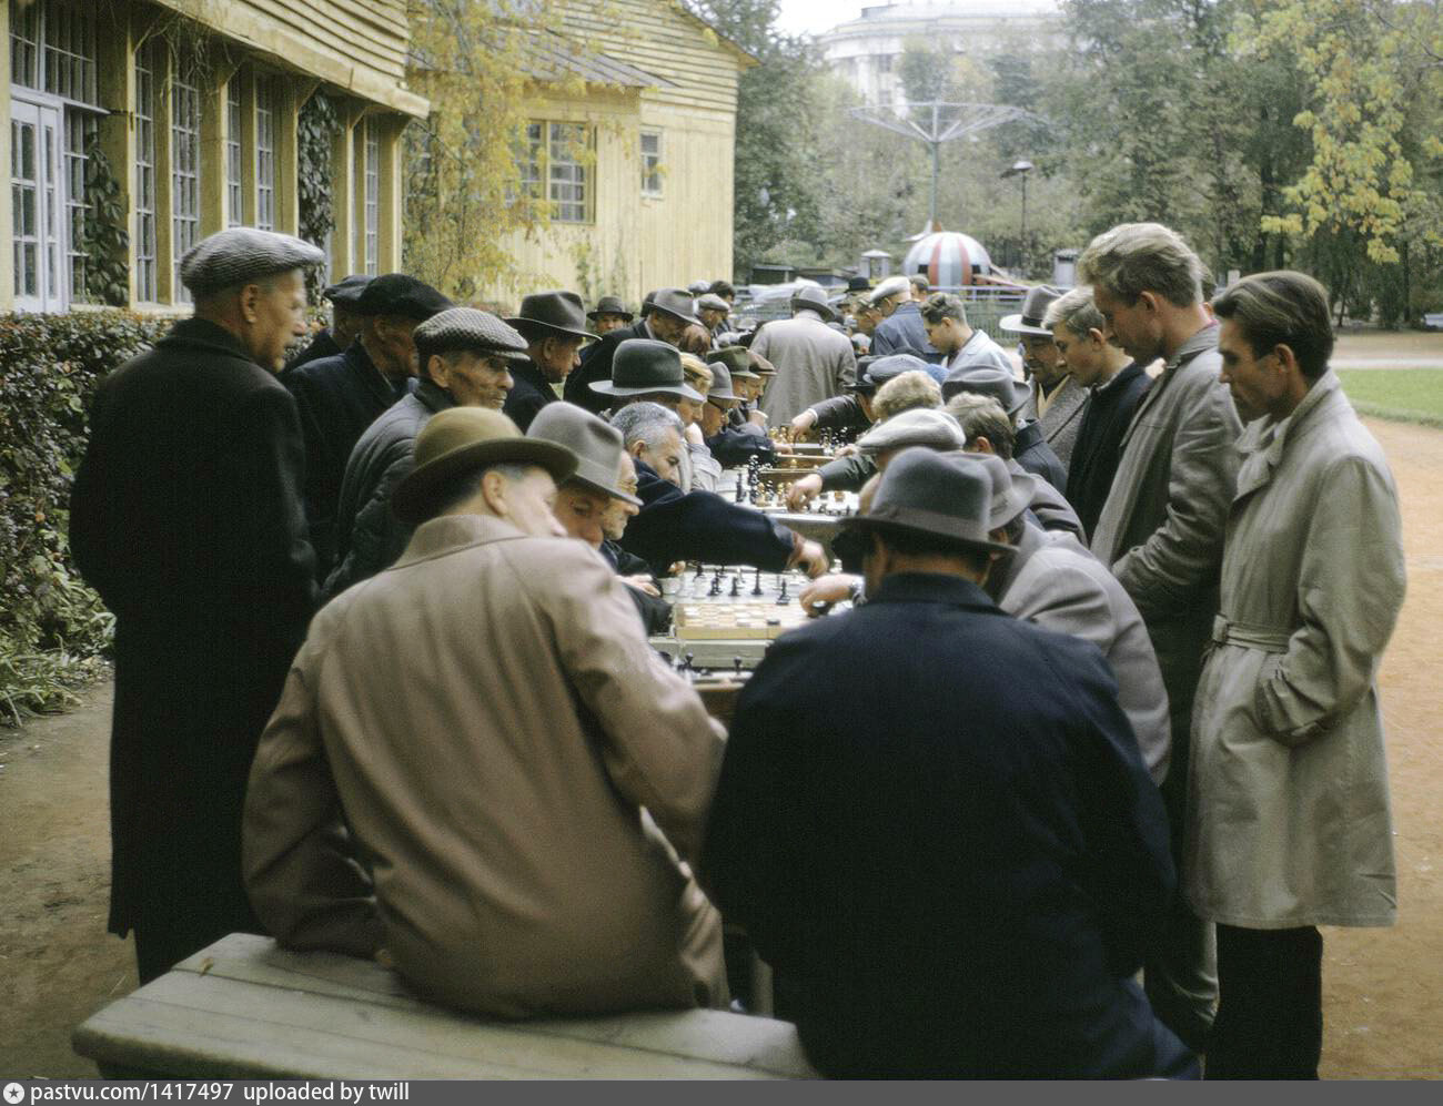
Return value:
M 1229 926 L 1387 926 L 1377 673 L 1404 591 L 1392 474 L 1330 371 L 1240 450 L 1193 714 L 1185 890 Z

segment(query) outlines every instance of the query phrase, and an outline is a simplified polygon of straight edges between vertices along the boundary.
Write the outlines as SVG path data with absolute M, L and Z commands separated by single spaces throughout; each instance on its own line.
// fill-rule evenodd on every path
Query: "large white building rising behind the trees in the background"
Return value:
M 905 99 L 902 50 L 909 42 L 945 43 L 954 53 L 984 59 L 1017 45 L 1061 40 L 1058 0 L 934 0 L 877 4 L 817 36 L 833 71 L 867 104 Z

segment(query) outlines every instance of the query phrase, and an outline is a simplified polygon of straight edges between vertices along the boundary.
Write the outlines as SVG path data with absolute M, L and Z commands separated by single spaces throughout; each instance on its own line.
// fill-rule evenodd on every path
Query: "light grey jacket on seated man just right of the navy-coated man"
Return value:
M 1153 783 L 1162 783 L 1172 751 L 1167 692 L 1147 627 L 1113 574 L 1071 534 L 1040 531 L 1029 522 L 1017 551 L 987 581 L 987 591 L 1009 614 L 1102 650 L 1143 763 Z

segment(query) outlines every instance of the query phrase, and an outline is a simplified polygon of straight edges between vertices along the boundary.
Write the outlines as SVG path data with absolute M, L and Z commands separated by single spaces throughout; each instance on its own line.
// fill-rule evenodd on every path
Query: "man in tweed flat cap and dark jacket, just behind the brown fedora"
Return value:
M 416 391 L 367 427 L 346 461 L 336 512 L 336 567 L 325 597 L 339 596 L 392 564 L 411 531 L 391 510 L 395 486 L 411 470 L 416 435 L 449 407 L 504 408 L 512 366 L 525 342 L 506 323 L 475 307 L 452 307 L 416 327 L 421 378 Z

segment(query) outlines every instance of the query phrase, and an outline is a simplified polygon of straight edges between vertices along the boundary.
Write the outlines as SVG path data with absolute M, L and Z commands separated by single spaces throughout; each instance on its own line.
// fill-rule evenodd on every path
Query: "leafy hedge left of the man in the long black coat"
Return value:
M 74 702 L 114 620 L 69 557 L 71 479 L 95 385 L 170 323 L 126 311 L 0 316 L 0 724 Z

